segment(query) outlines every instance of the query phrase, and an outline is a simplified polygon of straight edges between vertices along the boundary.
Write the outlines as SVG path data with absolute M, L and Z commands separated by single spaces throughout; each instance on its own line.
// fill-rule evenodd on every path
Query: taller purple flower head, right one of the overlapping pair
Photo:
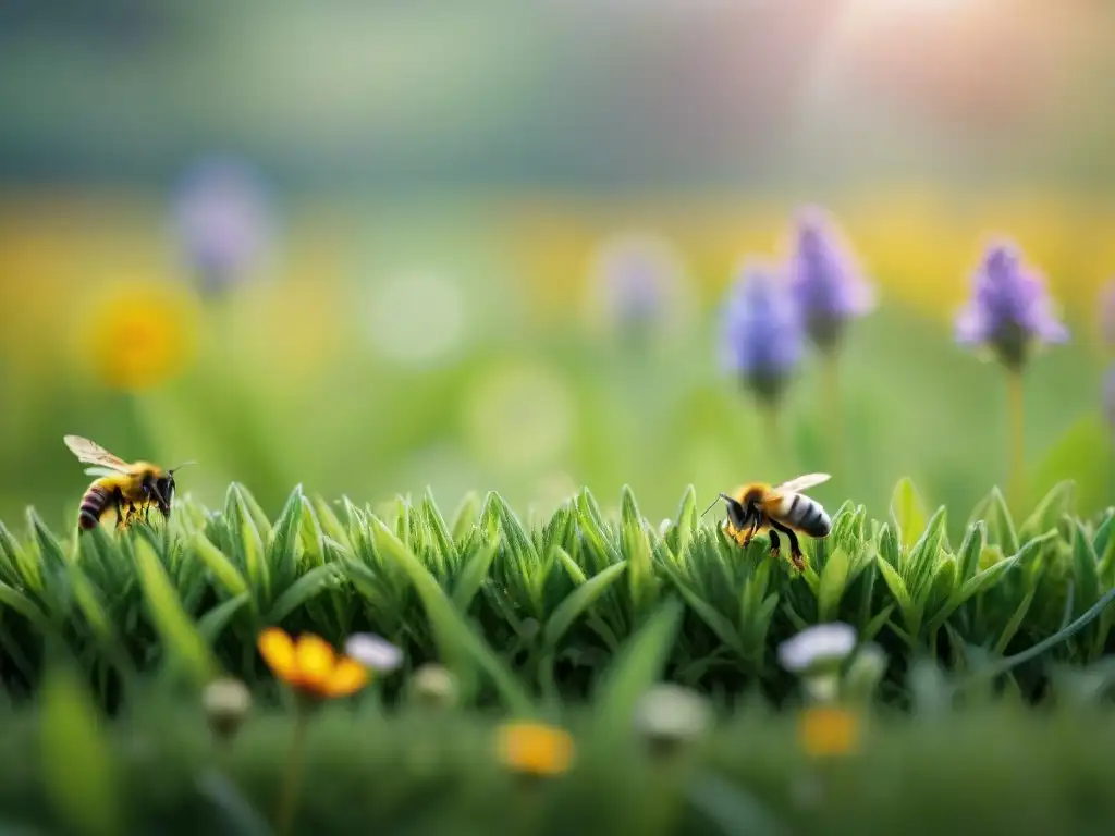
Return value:
M 788 271 L 806 333 L 822 351 L 835 348 L 847 320 L 874 308 L 874 289 L 835 224 L 817 206 L 798 212 Z

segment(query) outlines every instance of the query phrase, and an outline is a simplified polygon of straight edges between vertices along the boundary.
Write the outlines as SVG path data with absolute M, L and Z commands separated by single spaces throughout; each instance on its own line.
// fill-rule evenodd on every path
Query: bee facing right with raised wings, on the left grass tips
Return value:
M 96 465 L 86 473 L 98 478 L 89 485 L 81 497 L 78 509 L 78 534 L 95 528 L 109 511 L 116 513 L 116 528 L 126 528 L 143 514 L 146 522 L 152 504 L 163 514 L 171 516 L 174 500 L 174 474 L 180 467 L 193 464 L 185 461 L 171 470 L 148 461 L 128 464 L 100 445 L 80 436 L 62 439 L 78 461 Z

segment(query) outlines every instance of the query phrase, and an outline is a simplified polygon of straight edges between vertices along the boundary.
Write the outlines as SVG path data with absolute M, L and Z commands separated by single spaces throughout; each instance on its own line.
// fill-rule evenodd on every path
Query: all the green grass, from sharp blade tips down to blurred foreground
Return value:
M 1063 484 L 1014 519 L 992 490 L 953 542 L 903 479 L 884 521 L 845 503 L 796 576 L 765 539 L 744 554 L 699 519 L 692 489 L 661 526 L 630 492 L 619 505 L 610 518 L 582 490 L 520 521 L 496 494 L 446 515 L 295 489 L 269 519 L 232 485 L 221 509 L 187 498 L 166 526 L 81 537 L 29 512 L 0 527 L 0 826 L 262 836 L 297 797 L 291 832 L 322 835 L 1109 828 L 1112 511 L 1076 516 Z M 857 733 L 817 757 L 776 650 L 833 620 L 888 664 L 867 688 L 863 644 L 843 665 Z M 406 652 L 311 717 L 297 796 L 294 702 L 255 650 L 270 624 Z M 410 687 L 427 660 L 452 671 L 454 706 Z M 224 742 L 198 699 L 221 672 L 254 702 Z M 711 709 L 670 750 L 636 725 L 663 680 Z M 569 729 L 568 774 L 500 762 L 496 726 L 516 718 Z

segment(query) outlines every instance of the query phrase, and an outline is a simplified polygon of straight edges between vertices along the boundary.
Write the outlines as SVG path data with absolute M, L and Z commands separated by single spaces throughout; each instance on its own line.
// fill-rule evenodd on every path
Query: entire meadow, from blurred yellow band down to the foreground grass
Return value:
M 149 195 L 10 196 L 2 824 L 1104 832 L 1115 217 L 828 206 L 879 304 L 763 409 L 718 323 L 739 257 L 779 252 L 782 200 L 308 201 L 214 293 Z M 590 268 L 633 221 L 687 270 L 632 324 Z M 1072 332 L 1020 410 L 953 340 L 996 233 Z M 78 537 L 69 432 L 196 459 L 171 519 Z M 833 533 L 802 574 L 701 516 L 814 470 Z

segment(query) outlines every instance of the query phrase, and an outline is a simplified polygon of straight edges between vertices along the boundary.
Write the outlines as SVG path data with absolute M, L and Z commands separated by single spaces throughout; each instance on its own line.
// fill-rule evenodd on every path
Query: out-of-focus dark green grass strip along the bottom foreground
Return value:
M 640 689 L 655 675 L 632 654 L 617 667 L 613 684 Z M 409 703 L 384 711 L 375 691 L 326 707 L 309 728 L 292 832 L 1102 834 L 1115 815 L 1109 710 L 864 713 L 851 751 L 814 759 L 789 712 L 749 703 L 667 755 L 631 733 L 623 703 L 637 690 L 622 691 L 605 690 L 594 711 L 563 713 L 572 769 L 541 782 L 502 768 L 497 718 Z M 231 743 L 215 745 L 196 703 L 148 696 L 105 726 L 58 668 L 39 712 L 7 712 L 3 729 L 7 828 L 262 836 L 292 723 L 258 710 Z

